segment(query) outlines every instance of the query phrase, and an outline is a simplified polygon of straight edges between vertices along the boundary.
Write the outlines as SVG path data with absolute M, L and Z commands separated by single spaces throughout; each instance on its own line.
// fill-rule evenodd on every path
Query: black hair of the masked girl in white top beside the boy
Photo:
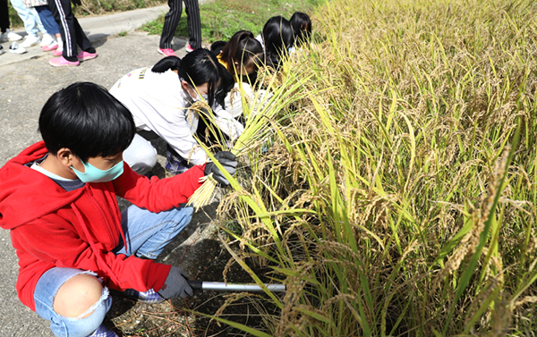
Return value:
M 152 72 L 177 71 L 179 78 L 186 80 L 192 87 L 207 83 L 208 103 L 212 106 L 215 102 L 215 94 L 221 88 L 221 79 L 226 68 L 220 64 L 217 57 L 208 49 L 198 48 L 183 57 L 168 56 L 158 61 Z

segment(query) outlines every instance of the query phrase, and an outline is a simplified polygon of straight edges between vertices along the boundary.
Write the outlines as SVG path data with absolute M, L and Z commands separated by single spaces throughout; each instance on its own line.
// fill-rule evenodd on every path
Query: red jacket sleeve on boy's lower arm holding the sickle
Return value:
M 18 254 L 25 255 L 24 260 L 29 264 L 32 260 L 46 261 L 57 267 L 93 271 L 105 279 L 108 287 L 119 291 L 129 288 L 158 291 L 171 267 L 152 260 L 115 255 L 98 243 L 96 251 L 81 239 L 71 223 L 58 215 L 47 215 L 17 227 L 11 234 L 13 247 L 18 249 Z

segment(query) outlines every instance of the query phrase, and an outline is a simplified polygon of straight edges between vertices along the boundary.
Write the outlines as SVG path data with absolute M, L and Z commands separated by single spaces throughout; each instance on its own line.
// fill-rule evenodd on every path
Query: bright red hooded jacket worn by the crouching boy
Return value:
M 173 178 L 149 180 L 124 164 L 124 173 L 114 181 L 66 191 L 24 165 L 45 155 L 41 141 L 0 169 L 0 227 L 11 231 L 19 257 L 21 302 L 35 311 L 33 294 L 39 277 L 55 266 L 93 271 L 119 291 L 160 290 L 170 265 L 112 252 L 124 237 L 115 197 L 151 212 L 168 210 L 187 202 L 200 187 L 204 165 Z

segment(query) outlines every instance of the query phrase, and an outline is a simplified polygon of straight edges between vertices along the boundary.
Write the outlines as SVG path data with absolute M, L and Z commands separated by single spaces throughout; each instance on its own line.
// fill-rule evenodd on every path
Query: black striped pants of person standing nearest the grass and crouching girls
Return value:
M 172 47 L 175 29 L 177 29 L 177 24 L 183 12 L 183 1 L 187 16 L 188 34 L 190 35 L 189 44 L 192 49 L 201 47 L 200 4 L 198 4 L 198 0 L 168 0 L 170 11 L 164 17 L 164 27 L 162 27 L 162 34 L 160 35 L 159 47 L 161 49 Z

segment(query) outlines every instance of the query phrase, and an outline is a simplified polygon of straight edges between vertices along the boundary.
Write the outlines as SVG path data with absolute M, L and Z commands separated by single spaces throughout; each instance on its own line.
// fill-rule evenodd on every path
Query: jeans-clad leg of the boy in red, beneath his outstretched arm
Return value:
M 122 227 L 127 240 L 114 249 L 116 254 L 155 259 L 166 245 L 191 222 L 194 211 L 190 206 L 152 213 L 147 209 L 130 206 L 122 212 Z

